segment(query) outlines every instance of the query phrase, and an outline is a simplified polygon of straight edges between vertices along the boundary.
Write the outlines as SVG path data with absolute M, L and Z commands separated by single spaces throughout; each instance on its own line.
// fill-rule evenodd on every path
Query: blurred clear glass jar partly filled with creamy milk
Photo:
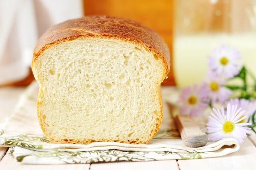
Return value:
M 256 74 L 256 0 L 176 0 L 174 74 L 178 87 L 199 83 L 214 48 L 237 48 Z

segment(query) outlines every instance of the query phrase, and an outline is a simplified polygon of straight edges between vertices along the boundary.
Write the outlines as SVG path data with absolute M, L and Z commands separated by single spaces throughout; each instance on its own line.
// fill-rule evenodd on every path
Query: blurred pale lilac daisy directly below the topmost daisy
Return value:
M 232 94 L 230 89 L 222 86 L 224 81 L 212 73 L 207 74 L 206 84 L 209 90 L 209 98 L 211 99 L 211 102 L 224 102 Z

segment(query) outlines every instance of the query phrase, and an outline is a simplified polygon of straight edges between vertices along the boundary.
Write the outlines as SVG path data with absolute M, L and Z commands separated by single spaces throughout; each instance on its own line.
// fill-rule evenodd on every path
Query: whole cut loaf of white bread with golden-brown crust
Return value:
M 49 28 L 32 59 L 45 136 L 54 143 L 149 142 L 162 122 L 160 83 L 169 68 L 166 44 L 134 21 L 90 16 Z

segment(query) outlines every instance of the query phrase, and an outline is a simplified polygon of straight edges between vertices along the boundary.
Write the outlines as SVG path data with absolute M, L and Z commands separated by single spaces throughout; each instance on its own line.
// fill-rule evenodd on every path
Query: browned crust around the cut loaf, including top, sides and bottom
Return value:
M 38 57 L 52 45 L 56 45 L 60 42 L 65 42 L 69 40 L 75 40 L 86 37 L 100 37 L 100 38 L 115 38 L 119 40 L 124 40 L 128 42 L 141 45 L 148 51 L 151 51 L 163 63 L 163 75 L 160 82 L 156 82 L 160 85 L 161 82 L 166 78 L 170 69 L 170 56 L 169 50 L 165 42 L 151 29 L 141 25 L 140 23 L 123 19 L 117 17 L 109 16 L 89 16 L 84 18 L 79 18 L 75 20 L 67 20 L 66 22 L 60 23 L 49 28 L 38 40 L 33 54 L 32 59 L 32 69 Z M 157 114 L 157 121 L 155 128 L 151 131 L 146 141 L 104 141 L 104 142 L 123 142 L 123 143 L 148 143 L 157 133 L 163 117 L 163 105 L 160 96 L 160 88 L 156 89 L 157 95 L 160 103 L 160 112 Z M 39 91 L 39 96 L 42 92 Z M 44 134 L 48 137 L 51 142 L 54 143 L 80 143 L 88 144 L 91 142 L 100 142 L 94 140 L 72 140 L 72 139 L 51 139 L 47 135 L 47 131 L 44 129 L 44 123 L 41 119 L 40 113 L 41 103 L 37 103 L 38 119 L 41 125 L 41 129 Z M 102 141 L 103 142 L 103 141 Z

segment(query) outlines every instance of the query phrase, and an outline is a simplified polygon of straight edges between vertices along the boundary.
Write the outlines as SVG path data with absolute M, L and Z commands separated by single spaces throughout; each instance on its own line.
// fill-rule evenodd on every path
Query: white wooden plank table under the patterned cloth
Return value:
M 13 112 L 24 88 L 0 88 L 0 121 Z M 16 162 L 8 149 L 0 147 L 0 170 L 255 170 L 256 135 L 241 144 L 238 152 L 208 159 L 147 162 L 113 162 L 95 164 L 32 165 Z

